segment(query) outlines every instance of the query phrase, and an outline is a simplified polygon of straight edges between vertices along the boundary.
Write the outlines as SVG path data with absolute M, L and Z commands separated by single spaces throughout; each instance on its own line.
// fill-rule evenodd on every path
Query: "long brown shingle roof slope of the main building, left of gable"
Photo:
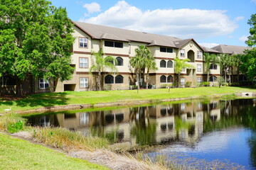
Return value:
M 179 38 L 174 38 L 166 35 L 156 35 L 151 33 L 143 33 L 135 30 L 125 30 L 121 28 L 112 28 L 108 26 L 99 26 L 92 23 L 81 23 L 73 21 L 75 26 L 83 30 L 92 38 L 100 40 L 119 40 L 119 41 L 134 41 L 134 42 L 146 42 L 149 45 L 159 45 L 165 47 L 177 47 L 174 42 L 183 42 Z M 178 45 L 179 46 L 179 45 Z M 177 47 L 178 48 L 178 47 Z

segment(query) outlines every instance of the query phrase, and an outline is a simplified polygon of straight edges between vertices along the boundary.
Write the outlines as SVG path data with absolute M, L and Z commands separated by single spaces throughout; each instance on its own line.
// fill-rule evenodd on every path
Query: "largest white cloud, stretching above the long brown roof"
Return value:
M 118 1 L 98 16 L 80 21 L 178 38 L 198 39 L 227 35 L 238 28 L 237 24 L 225 15 L 225 11 L 189 8 L 142 11 L 126 1 Z

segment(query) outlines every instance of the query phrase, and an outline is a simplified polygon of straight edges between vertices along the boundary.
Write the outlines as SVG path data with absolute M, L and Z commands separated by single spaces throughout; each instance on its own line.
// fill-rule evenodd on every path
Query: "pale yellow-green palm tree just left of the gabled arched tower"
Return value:
M 180 87 L 180 76 L 181 76 L 181 70 L 186 68 L 194 68 L 193 65 L 187 64 L 186 62 L 190 62 L 190 59 L 184 59 L 180 60 L 178 57 L 174 59 L 174 73 L 178 74 L 178 87 Z

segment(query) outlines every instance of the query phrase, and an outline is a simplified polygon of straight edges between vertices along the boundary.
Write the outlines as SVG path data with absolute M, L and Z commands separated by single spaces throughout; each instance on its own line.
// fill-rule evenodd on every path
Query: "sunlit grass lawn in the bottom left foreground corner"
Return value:
M 107 169 L 0 133 L 0 169 Z

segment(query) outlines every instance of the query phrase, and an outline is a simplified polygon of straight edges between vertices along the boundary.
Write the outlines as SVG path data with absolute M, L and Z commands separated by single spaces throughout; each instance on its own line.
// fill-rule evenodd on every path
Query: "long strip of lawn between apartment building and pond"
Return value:
M 218 86 L 177 89 L 149 89 L 124 91 L 65 91 L 62 93 L 33 94 L 18 100 L 0 98 L 0 113 L 4 109 L 25 111 L 48 106 L 63 106 L 68 104 L 95 104 L 132 100 L 157 100 L 166 98 L 186 98 L 192 96 L 210 96 L 214 94 L 233 94 L 239 92 L 254 92 L 256 89 L 244 87 Z

